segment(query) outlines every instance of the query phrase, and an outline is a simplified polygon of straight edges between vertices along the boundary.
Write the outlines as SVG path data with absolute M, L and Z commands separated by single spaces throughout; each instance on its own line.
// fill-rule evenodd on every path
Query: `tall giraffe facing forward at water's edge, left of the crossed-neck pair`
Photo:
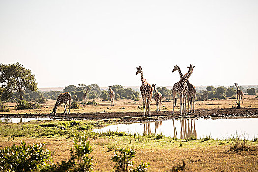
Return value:
M 141 81 L 142 81 L 142 86 L 140 87 L 140 92 L 143 98 L 143 113 L 145 116 L 145 105 L 146 105 L 146 113 L 147 115 L 151 116 L 151 112 L 150 112 L 150 102 L 151 102 L 151 98 L 152 98 L 152 92 L 153 92 L 153 88 L 151 87 L 151 85 L 146 81 L 146 79 L 143 78 L 143 71 L 142 71 L 142 67 L 136 67 L 137 74 L 141 74 Z

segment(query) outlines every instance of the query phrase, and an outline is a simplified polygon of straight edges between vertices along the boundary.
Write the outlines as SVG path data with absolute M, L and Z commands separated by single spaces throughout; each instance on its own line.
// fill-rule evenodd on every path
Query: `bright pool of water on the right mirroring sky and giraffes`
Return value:
M 258 118 L 249 119 L 182 119 L 167 120 L 160 122 L 149 122 L 145 124 L 118 124 L 111 125 L 101 129 L 95 129 L 95 132 L 106 131 L 124 131 L 127 133 L 158 134 L 163 133 L 165 136 L 176 136 L 177 138 L 185 138 L 187 136 L 196 135 L 197 138 L 210 136 L 211 138 L 226 139 L 232 137 L 240 137 L 252 140 L 258 136 Z

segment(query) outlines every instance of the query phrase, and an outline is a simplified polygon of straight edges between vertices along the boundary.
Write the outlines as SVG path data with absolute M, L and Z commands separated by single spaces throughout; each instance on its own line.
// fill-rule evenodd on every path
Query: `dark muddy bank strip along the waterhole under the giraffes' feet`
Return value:
M 225 108 L 225 109 L 198 109 L 195 114 L 180 116 L 179 111 L 151 112 L 151 117 L 144 117 L 143 112 L 95 112 L 64 114 L 1 114 L 1 118 L 39 118 L 47 117 L 63 120 L 100 120 L 116 119 L 119 122 L 148 122 L 179 118 L 258 118 L 258 108 Z

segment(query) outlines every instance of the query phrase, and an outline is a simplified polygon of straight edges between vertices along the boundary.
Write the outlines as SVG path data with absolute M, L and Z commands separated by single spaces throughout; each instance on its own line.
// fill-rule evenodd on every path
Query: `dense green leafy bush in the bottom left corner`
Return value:
M 32 172 L 46 168 L 52 162 L 51 152 L 44 149 L 43 144 L 20 146 L 13 144 L 0 150 L 0 170 L 3 172 Z

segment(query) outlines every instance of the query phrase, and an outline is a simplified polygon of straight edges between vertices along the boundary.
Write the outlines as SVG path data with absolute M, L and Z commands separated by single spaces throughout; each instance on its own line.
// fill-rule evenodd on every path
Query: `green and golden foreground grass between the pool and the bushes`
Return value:
M 138 135 L 124 132 L 95 133 L 94 128 L 114 124 L 114 120 L 99 121 L 32 121 L 22 124 L 0 124 L 0 149 L 26 143 L 43 143 L 52 152 L 53 162 L 68 162 L 73 138 L 82 131 L 93 151 L 93 171 L 112 171 L 119 164 L 112 162 L 114 152 L 136 151 L 135 164 L 148 162 L 149 171 L 257 171 L 258 141 L 237 138 L 215 140 L 209 137 L 177 139 L 158 135 Z M 117 152 L 118 153 L 118 152 Z M 127 152 L 134 155 L 133 152 Z M 91 157 L 91 156 L 90 156 Z M 115 158 L 113 158 L 115 159 Z M 118 161 L 118 159 L 116 159 Z M 130 161 L 130 160 L 128 160 Z M 138 167 L 138 166 L 137 166 Z

